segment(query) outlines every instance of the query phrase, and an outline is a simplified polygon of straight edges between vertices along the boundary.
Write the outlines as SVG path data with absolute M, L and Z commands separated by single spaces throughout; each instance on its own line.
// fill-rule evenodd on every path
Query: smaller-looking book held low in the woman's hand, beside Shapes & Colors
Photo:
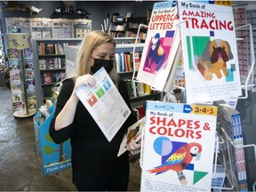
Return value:
M 141 130 L 144 127 L 144 124 L 145 117 L 141 118 L 138 122 L 128 127 L 127 133 L 124 134 L 124 138 L 121 142 L 117 156 L 124 154 L 124 152 L 127 150 L 126 145 L 129 144 L 132 139 L 134 139 L 136 142 L 141 139 Z

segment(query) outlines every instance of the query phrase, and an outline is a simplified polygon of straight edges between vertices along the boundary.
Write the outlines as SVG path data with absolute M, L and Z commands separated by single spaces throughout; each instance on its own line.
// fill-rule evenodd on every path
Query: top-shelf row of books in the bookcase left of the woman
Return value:
M 78 44 L 71 44 L 71 43 L 44 43 L 40 42 L 38 43 L 38 54 L 44 55 L 44 54 L 65 54 L 66 53 L 66 47 L 72 46 L 72 45 L 78 45 Z

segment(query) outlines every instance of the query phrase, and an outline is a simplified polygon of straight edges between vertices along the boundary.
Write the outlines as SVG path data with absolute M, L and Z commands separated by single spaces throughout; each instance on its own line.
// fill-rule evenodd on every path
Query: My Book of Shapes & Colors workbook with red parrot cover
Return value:
M 217 107 L 147 100 L 141 191 L 211 191 Z

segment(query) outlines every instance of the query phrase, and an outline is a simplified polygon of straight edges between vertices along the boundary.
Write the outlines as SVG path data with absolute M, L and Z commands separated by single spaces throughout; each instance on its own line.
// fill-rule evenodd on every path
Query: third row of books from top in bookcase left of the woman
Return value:
M 42 84 L 56 84 L 66 78 L 65 71 L 51 71 L 44 72 L 41 74 L 41 83 Z

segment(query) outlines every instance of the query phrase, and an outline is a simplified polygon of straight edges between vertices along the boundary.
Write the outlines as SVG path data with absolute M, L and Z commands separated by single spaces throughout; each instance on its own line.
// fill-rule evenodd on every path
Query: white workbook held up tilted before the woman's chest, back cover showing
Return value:
M 100 68 L 93 77 L 96 86 L 82 85 L 76 95 L 110 141 L 132 112 L 105 68 Z

